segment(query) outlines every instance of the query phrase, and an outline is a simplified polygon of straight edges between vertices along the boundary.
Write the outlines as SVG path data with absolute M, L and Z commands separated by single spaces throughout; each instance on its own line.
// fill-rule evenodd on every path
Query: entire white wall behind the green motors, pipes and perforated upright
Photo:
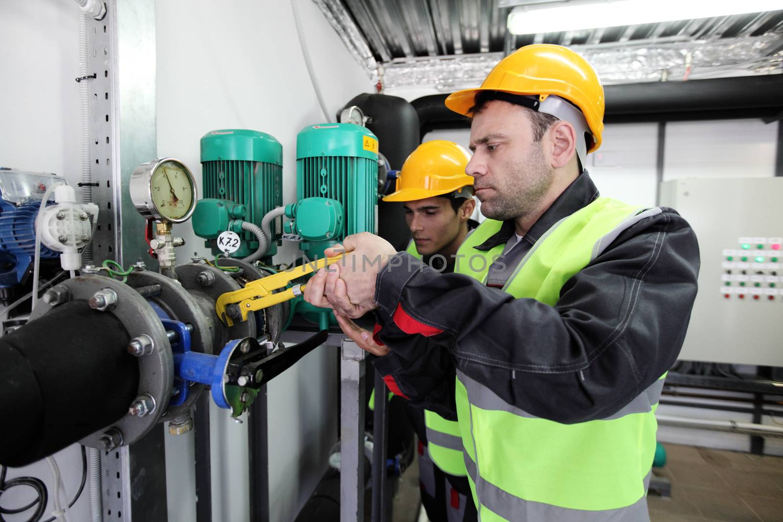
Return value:
M 316 73 L 334 113 L 373 86 L 316 5 L 299 3 Z M 51 171 L 78 182 L 77 30 L 72 0 L 0 2 L 0 166 Z M 294 201 L 296 134 L 322 122 L 323 113 L 301 57 L 290 3 L 165 0 L 157 2 L 156 33 L 158 155 L 185 161 L 200 181 L 199 140 L 207 131 L 268 132 L 283 144 L 283 201 Z M 175 232 L 187 240 L 182 257 L 194 250 L 207 254 L 189 226 Z M 290 259 L 297 249 L 289 245 L 281 252 L 276 261 Z M 336 355 L 323 348 L 269 384 L 271 520 L 293 520 L 327 466 L 337 437 L 337 383 Z M 211 418 L 214 520 L 248 520 L 247 424 L 230 422 L 228 412 L 214 406 Z M 195 520 L 193 434 L 166 437 L 169 520 Z M 78 449 L 67 448 L 56 458 L 70 497 L 81 477 Z M 45 463 L 9 471 L 9 478 L 20 475 L 51 482 Z M 3 505 L 19 505 L 28 496 L 3 495 Z M 88 504 L 85 491 L 69 520 L 88 520 Z

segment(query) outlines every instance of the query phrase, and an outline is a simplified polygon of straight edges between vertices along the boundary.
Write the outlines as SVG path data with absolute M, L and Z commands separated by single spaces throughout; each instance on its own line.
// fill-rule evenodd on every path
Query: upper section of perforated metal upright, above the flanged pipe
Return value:
M 155 126 L 155 2 L 105 0 L 103 20 L 88 18 L 92 124 L 92 200 L 100 209 L 92 241 L 96 261 L 127 266 L 157 261 L 139 241 L 146 222 L 135 210 L 128 182 L 135 167 L 157 157 Z

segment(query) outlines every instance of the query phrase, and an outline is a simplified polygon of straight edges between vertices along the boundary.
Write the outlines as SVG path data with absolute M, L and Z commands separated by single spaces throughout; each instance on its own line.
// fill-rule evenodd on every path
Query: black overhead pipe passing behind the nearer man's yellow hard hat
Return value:
M 776 117 L 783 111 L 783 75 L 607 85 L 605 123 L 696 121 Z M 448 94 L 422 96 L 411 105 L 420 139 L 440 128 L 469 128 L 466 117 L 446 108 Z

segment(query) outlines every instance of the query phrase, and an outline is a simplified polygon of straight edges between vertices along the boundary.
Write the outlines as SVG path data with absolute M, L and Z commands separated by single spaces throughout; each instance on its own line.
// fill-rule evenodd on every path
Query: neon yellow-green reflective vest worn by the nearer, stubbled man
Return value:
M 518 299 L 554 305 L 566 281 L 622 230 L 660 212 L 598 198 L 553 225 L 519 262 L 503 290 Z M 486 283 L 489 265 L 505 245 L 488 251 L 474 247 L 501 225 L 486 220 L 466 239 L 455 272 Z M 460 344 L 458 349 L 471 351 L 471 346 Z M 457 369 L 456 410 L 480 520 L 648 520 L 654 414 L 664 376 L 611 416 L 561 424 L 508 404 Z M 508 378 L 514 378 L 511 370 Z M 515 378 L 525 379 L 525 373 L 517 372 Z

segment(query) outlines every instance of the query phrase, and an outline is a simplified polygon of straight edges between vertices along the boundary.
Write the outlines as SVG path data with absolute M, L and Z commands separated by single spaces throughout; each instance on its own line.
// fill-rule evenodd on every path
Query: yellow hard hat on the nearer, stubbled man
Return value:
M 449 95 L 446 106 L 456 113 L 470 116 L 475 95 L 480 91 L 538 95 L 541 102 L 549 95 L 567 99 L 579 107 L 590 127 L 593 139 L 587 152 L 591 153 L 601 146 L 604 86 L 590 62 L 567 47 L 525 45 L 500 60 L 481 87 Z

